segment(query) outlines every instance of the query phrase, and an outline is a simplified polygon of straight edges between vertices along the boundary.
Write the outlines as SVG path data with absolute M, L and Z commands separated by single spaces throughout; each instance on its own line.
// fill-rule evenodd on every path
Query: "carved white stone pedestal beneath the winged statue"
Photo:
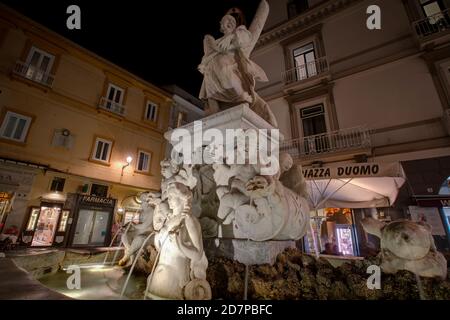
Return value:
M 256 134 L 257 139 L 248 138 L 251 134 Z M 244 135 L 247 138 L 242 145 L 242 140 L 237 141 Z M 198 217 L 200 221 L 207 219 L 203 221 L 203 242 L 208 257 L 223 256 L 249 265 L 273 264 L 279 253 L 295 247 L 295 240 L 306 233 L 309 221 L 306 200 L 278 180 L 279 142 L 283 136 L 247 104 L 166 132 L 164 136 L 176 150 L 172 159 L 179 156 L 175 160 L 182 160 L 183 166 L 200 168 L 193 190 L 194 198 L 200 199 L 197 203 L 201 204 Z M 248 143 L 249 140 L 252 142 Z M 180 148 L 180 142 L 190 147 Z M 223 152 L 218 152 L 221 156 L 213 152 L 212 166 L 204 157 L 208 148 Z M 256 160 L 251 157 L 255 153 Z M 245 161 L 240 163 L 238 154 Z M 203 193 L 205 182 L 200 173 L 207 165 L 210 176 L 203 180 L 213 182 L 208 186 L 208 194 Z M 267 170 L 270 166 L 274 168 L 272 171 Z M 216 209 L 210 205 L 214 201 L 218 203 Z M 213 238 L 205 239 L 208 236 Z

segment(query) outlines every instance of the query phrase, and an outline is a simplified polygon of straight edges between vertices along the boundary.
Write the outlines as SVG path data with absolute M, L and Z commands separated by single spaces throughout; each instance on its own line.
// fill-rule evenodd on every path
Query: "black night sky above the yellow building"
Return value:
M 219 37 L 226 11 L 247 24 L 259 0 L 0 0 L 99 56 L 156 85 L 177 84 L 198 96 L 203 37 Z M 81 8 L 81 30 L 68 30 L 66 9 Z

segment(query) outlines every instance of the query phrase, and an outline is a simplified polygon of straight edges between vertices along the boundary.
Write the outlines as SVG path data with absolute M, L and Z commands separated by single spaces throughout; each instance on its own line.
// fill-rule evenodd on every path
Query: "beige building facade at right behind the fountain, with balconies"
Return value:
M 417 200 L 448 197 L 439 190 L 450 175 L 450 1 L 269 5 L 252 59 L 269 78 L 257 91 L 286 137 L 282 149 L 304 168 L 399 162 L 407 178 L 392 207 L 328 208 L 322 221 L 352 225 L 353 240 L 361 244 L 367 237 L 359 218 L 408 217 L 421 208 Z M 372 29 L 367 20 L 377 9 L 381 29 Z M 444 209 L 436 210 L 442 229 L 433 233 L 448 250 L 448 219 Z M 370 251 L 363 247 L 353 255 Z

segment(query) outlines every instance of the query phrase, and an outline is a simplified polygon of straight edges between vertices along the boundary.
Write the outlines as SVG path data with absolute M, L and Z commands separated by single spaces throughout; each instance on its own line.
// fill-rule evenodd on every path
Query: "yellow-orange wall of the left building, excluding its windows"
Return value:
M 24 61 L 31 45 L 55 56 L 51 88 L 13 73 Z M 125 89 L 123 117 L 98 108 L 108 83 Z M 49 170 L 34 179 L 27 205 L 39 206 L 50 193 L 54 177 L 65 178 L 63 194 L 80 192 L 84 184 L 107 185 L 108 196 L 122 207 L 127 197 L 160 189 L 160 161 L 164 157 L 170 107 L 168 93 L 113 65 L 101 57 L 32 21 L 0 10 L 0 121 L 6 110 L 31 115 L 34 120 L 25 143 L 0 139 L 0 157 L 37 163 Z M 158 120 L 143 119 L 146 102 L 159 105 Z M 0 123 L 1 125 L 1 123 Z M 72 148 L 52 146 L 55 130 L 68 129 Z M 113 141 L 108 165 L 90 161 L 96 136 Z M 135 171 L 138 149 L 151 152 L 150 173 Z M 124 168 L 126 158 L 131 165 Z M 20 168 L 19 168 L 20 169 Z M 63 195 L 63 196 L 64 196 Z M 55 196 L 57 200 L 58 196 Z M 11 212 L 14 224 L 26 220 L 28 212 Z

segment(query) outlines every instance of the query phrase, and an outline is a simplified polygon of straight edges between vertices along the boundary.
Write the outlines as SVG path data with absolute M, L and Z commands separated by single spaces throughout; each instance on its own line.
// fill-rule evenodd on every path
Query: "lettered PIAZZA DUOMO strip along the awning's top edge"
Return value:
M 398 176 L 399 164 L 358 163 L 335 167 L 304 168 L 305 179 L 339 179 L 357 177 Z

